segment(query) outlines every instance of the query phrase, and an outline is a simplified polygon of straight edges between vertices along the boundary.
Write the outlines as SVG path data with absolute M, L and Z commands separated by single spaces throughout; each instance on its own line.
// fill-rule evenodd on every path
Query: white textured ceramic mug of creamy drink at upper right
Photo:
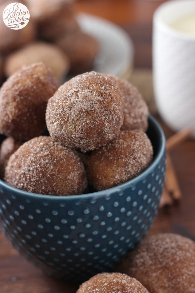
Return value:
M 195 36 L 171 28 L 195 13 L 195 0 L 161 4 L 153 17 L 153 81 L 158 112 L 175 131 L 190 127 L 195 137 Z

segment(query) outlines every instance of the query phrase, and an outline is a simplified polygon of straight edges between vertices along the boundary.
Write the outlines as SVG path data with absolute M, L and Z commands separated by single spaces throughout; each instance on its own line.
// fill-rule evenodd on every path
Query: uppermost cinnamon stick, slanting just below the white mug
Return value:
M 167 151 L 174 149 L 175 147 L 177 147 L 178 144 L 187 140 L 190 137 L 191 133 L 192 133 L 191 129 L 186 128 L 173 134 L 166 141 Z

